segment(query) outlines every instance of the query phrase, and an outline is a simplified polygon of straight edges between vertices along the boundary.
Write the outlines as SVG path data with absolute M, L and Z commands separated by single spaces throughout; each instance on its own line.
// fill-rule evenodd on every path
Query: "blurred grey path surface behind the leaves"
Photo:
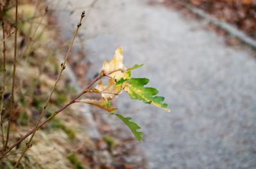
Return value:
M 65 8 L 82 10 L 88 4 L 70 0 Z M 81 10 L 61 13 L 63 26 L 76 24 Z M 122 45 L 125 65 L 145 63 L 134 77 L 150 78 L 149 85 L 170 103 L 168 113 L 127 96 L 118 99 L 120 112 L 130 114 L 145 133 L 138 147 L 148 168 L 256 168 L 251 51 L 227 47 L 202 21 L 184 20 L 177 11 L 145 0 L 99 0 L 81 33 L 93 62 L 89 77 Z

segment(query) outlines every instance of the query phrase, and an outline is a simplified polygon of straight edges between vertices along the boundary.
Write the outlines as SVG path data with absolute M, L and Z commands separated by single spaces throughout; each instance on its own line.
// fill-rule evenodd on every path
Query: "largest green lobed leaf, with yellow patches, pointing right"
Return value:
M 125 91 L 129 93 L 129 96 L 132 99 L 138 99 L 144 103 L 156 105 L 156 107 L 163 108 L 170 112 L 168 104 L 163 103 L 164 97 L 156 96 L 158 93 L 157 89 L 153 87 L 144 87 L 148 82 L 148 78 L 131 78 L 129 80 L 129 85 L 125 86 Z

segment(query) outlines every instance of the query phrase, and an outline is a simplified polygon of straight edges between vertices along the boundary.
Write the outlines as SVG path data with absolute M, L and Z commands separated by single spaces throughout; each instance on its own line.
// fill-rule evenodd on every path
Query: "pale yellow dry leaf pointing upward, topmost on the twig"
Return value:
M 120 78 L 127 78 L 127 75 L 125 75 L 124 71 L 126 70 L 124 63 L 123 63 L 123 48 L 118 47 L 115 51 L 115 55 L 113 59 L 108 62 L 105 61 L 102 66 L 102 71 L 104 73 L 110 73 L 109 77 L 115 78 L 116 80 L 120 80 Z

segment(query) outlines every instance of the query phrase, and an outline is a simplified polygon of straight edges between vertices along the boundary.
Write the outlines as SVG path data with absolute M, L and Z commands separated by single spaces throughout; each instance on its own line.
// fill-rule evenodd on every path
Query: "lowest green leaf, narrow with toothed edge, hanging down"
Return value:
M 142 141 L 142 135 L 143 133 L 141 131 L 137 131 L 138 129 L 141 129 L 138 124 L 131 121 L 131 117 L 124 117 L 121 114 L 115 114 L 119 119 L 121 119 L 132 131 L 134 136 L 137 138 L 139 142 Z

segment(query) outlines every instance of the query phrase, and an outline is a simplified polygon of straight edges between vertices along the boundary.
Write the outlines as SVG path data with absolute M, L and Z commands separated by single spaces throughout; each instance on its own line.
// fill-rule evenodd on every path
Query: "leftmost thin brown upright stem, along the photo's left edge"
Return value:
M 2 26 L 2 33 L 3 33 L 3 40 L 5 38 L 5 33 L 4 33 L 4 20 L 3 20 L 3 15 L 4 15 L 4 6 L 1 8 L 1 26 Z M 3 88 L 2 88 L 2 96 L 1 96 L 1 105 L 0 105 L 0 128 L 1 128 L 1 136 L 2 136 L 2 142 L 3 142 L 3 147 L 4 147 L 4 131 L 3 131 L 3 110 L 4 110 L 4 91 L 5 91 L 5 74 L 6 74 L 6 66 L 5 66 L 5 41 L 3 41 Z

